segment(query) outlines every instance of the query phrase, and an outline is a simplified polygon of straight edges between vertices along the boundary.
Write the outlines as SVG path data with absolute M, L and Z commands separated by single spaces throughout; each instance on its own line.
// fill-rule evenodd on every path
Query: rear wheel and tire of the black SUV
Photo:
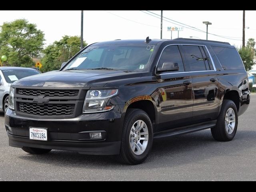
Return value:
M 231 141 L 236 135 L 238 113 L 232 100 L 223 100 L 217 124 L 211 128 L 212 136 L 217 141 Z

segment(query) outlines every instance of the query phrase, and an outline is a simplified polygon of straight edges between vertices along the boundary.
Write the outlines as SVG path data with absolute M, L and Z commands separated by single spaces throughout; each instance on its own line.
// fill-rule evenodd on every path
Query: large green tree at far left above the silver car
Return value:
M 7 66 L 32 66 L 33 57 L 43 50 L 44 33 L 36 29 L 36 24 L 18 19 L 4 22 L 0 32 L 0 55 L 6 55 Z

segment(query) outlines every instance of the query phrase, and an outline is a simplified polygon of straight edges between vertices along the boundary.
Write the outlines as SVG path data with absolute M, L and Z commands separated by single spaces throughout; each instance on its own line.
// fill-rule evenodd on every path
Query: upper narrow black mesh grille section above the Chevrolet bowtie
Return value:
M 79 90 L 17 89 L 17 94 L 26 96 L 76 97 L 78 93 Z

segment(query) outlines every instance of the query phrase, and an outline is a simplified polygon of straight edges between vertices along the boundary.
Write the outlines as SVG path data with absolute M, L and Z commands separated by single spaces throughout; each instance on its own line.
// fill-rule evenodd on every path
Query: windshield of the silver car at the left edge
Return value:
M 16 80 L 19 80 L 27 76 L 40 74 L 39 71 L 31 69 L 6 69 L 2 70 L 2 72 L 4 74 L 6 82 L 8 83 L 13 83 Z

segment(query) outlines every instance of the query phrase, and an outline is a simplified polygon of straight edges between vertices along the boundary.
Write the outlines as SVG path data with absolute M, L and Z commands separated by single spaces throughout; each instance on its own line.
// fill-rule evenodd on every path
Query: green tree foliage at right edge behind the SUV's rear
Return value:
M 256 64 L 255 61 L 255 42 L 253 38 L 248 39 L 247 45 L 243 48 L 238 49 L 238 53 L 240 54 L 244 67 L 246 71 L 250 71 L 252 69 L 252 66 Z

